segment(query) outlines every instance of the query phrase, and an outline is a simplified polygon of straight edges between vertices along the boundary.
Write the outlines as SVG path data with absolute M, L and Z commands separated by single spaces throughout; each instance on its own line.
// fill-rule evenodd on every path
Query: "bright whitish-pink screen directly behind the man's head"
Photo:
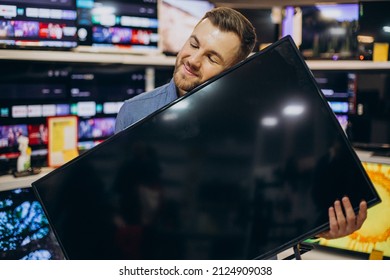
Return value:
M 162 0 L 159 4 L 161 50 L 176 55 L 204 14 L 215 5 L 207 0 Z

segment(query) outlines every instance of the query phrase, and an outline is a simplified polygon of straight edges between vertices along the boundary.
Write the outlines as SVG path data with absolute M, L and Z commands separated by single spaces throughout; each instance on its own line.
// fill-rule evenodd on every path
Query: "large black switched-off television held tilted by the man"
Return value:
M 266 259 L 380 201 L 290 37 L 32 185 L 69 259 Z

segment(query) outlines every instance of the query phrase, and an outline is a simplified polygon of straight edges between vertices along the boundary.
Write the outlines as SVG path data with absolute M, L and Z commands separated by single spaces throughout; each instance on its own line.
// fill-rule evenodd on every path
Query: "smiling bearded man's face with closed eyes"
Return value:
M 200 22 L 176 58 L 173 78 L 180 96 L 237 62 L 240 39 L 208 19 Z

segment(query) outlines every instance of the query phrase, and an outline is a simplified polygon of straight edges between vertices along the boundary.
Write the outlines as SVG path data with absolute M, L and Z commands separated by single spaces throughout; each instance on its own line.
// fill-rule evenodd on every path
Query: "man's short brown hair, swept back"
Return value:
M 233 32 L 240 38 L 241 48 L 236 62 L 244 60 L 252 52 L 256 44 L 255 28 L 240 12 L 228 7 L 217 7 L 208 11 L 200 22 L 206 18 L 221 31 Z

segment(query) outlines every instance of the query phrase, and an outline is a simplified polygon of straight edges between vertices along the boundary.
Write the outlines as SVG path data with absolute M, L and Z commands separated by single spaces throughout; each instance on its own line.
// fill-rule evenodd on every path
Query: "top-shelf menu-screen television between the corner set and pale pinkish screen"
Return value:
M 78 0 L 80 51 L 159 52 L 157 0 Z

